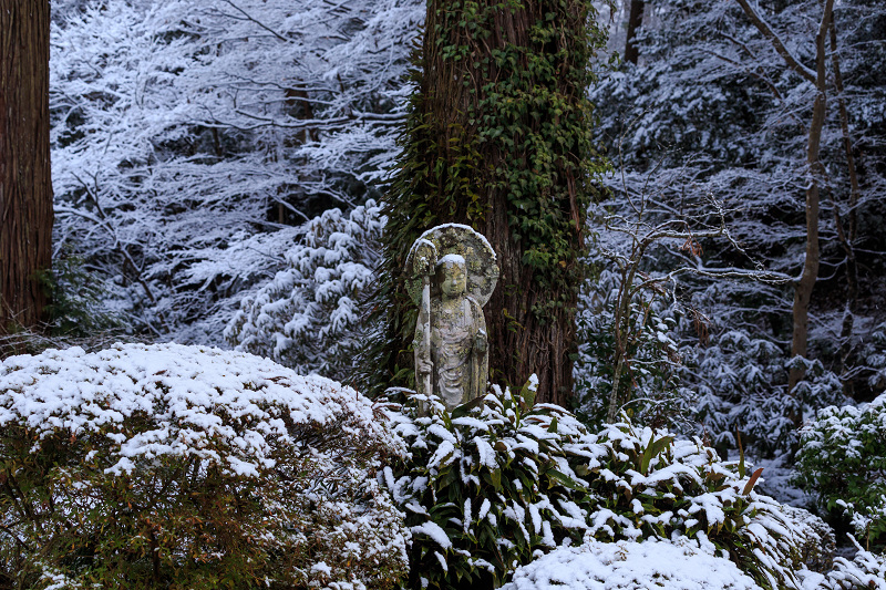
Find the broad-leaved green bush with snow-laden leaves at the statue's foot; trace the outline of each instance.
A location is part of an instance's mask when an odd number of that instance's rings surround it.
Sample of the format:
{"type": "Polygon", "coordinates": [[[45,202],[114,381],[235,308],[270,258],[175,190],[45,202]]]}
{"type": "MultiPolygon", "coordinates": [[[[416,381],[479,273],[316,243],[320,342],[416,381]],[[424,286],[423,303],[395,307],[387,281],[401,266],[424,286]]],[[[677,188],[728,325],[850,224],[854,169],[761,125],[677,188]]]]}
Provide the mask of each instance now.
{"type": "MultiPolygon", "coordinates": [[[[686,538],[766,589],[796,588],[813,527],[753,490],[759,474],[699,439],[616,424],[591,434],[533,389],[494,389],[452,418],[391,413],[411,458],[387,472],[408,513],[412,571],[454,587],[485,568],[506,580],[540,552],[583,539],[686,538]]],[[[419,580],[414,580],[419,582],[419,580]]]]}

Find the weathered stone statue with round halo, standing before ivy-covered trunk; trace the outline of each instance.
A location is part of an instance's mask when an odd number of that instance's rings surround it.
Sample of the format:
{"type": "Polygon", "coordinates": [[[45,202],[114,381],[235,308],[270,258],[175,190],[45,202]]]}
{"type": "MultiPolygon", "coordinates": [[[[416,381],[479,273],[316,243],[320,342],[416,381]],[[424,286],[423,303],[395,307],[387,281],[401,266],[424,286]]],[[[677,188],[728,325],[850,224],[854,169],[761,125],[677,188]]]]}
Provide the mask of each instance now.
{"type": "Polygon", "coordinates": [[[490,353],[483,306],[498,281],[495,251],[468,226],[425,231],[406,258],[406,282],[419,304],[415,390],[452,411],[485,394],[490,353]]]}

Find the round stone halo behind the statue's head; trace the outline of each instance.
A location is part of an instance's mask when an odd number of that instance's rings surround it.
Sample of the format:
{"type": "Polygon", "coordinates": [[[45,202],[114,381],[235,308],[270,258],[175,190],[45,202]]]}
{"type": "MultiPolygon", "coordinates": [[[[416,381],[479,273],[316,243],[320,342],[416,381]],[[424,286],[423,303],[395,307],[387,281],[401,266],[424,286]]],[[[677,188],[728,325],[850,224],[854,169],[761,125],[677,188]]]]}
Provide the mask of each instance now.
{"type": "MultiPolygon", "coordinates": [[[[445,224],[436,226],[415,240],[406,256],[406,291],[416,306],[422,302],[422,276],[414,270],[414,255],[420,245],[430,241],[436,249],[436,260],[446,255],[461,255],[467,267],[467,294],[481,307],[485,306],[498,282],[495,250],[488,240],[470,226],[445,224]]],[[[433,297],[433,294],[432,294],[433,297]]]]}

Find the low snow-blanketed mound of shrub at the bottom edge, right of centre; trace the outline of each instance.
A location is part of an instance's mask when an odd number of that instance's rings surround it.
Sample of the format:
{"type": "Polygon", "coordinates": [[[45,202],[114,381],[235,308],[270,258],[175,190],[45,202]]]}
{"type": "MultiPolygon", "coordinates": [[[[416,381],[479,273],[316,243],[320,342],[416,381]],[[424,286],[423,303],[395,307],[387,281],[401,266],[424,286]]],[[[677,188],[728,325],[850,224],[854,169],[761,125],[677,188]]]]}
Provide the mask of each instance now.
{"type": "Polygon", "coordinates": [[[760,590],[728,559],[681,541],[564,547],[518,568],[502,590],[760,590]]]}

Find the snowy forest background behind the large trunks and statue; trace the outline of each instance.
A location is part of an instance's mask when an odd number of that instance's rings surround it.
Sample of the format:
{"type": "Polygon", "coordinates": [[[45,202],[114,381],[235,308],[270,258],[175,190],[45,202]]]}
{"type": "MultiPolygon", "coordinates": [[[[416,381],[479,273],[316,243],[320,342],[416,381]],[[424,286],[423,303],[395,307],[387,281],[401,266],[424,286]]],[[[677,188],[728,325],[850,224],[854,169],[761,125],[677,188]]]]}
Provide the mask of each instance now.
{"type": "MultiPolygon", "coordinates": [[[[735,0],[645,4],[637,63],[617,58],[630,2],[599,7],[610,38],[588,92],[611,169],[589,211],[570,410],[601,425],[615,398],[637,424],[722,456],[741,446],[767,468],[766,493],[815,508],[790,483],[797,424],[886,391],[886,8],[834,7],[821,270],[805,376],[789,391],[816,89],[735,0]]],[[[237,348],[349,383],[373,329],[361,301],[424,3],[52,10],[55,335],[43,344],[237,348]]],[[[814,68],[821,3],[759,10],[814,68]]],[[[886,497],[855,519],[859,538],[886,530],[884,514],[886,497]]],[[[852,530],[847,513],[830,518],[852,530]]]]}

